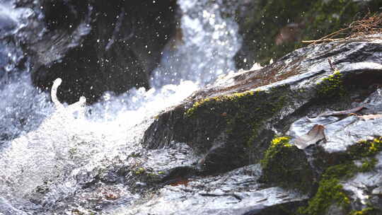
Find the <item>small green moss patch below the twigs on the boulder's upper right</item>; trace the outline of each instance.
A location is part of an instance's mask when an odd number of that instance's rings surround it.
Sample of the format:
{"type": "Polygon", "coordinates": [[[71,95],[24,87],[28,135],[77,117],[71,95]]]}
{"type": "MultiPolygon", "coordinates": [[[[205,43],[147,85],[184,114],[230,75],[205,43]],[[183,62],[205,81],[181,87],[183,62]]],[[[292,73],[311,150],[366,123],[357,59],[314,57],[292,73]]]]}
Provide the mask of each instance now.
{"type": "Polygon", "coordinates": [[[345,87],[341,79],[340,71],[335,71],[334,74],[326,77],[318,83],[319,98],[337,98],[346,94],[345,87]]]}

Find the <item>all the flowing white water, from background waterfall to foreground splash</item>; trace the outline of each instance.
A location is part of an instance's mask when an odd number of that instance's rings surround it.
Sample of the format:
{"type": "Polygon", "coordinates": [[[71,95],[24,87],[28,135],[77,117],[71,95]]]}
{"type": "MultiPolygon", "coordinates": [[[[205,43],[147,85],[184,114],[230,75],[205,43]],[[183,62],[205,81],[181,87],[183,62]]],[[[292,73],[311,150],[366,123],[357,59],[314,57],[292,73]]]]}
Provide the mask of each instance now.
{"type": "Polygon", "coordinates": [[[118,190],[119,200],[100,208],[100,214],[108,214],[115,207],[128,209],[139,197],[125,185],[93,182],[142,150],[141,136],[158,112],[236,69],[233,56],[241,41],[238,25],[227,16],[235,8],[208,0],[178,4],[183,39],[163,50],[152,88],[105,93],[84,107],[83,100],[53,104],[33,87],[28,62],[19,66],[23,52],[17,42],[33,11],[0,1],[0,28],[6,30],[0,38],[1,215],[69,214],[74,208],[80,213],[81,205],[96,202],[103,190],[118,190]]]}

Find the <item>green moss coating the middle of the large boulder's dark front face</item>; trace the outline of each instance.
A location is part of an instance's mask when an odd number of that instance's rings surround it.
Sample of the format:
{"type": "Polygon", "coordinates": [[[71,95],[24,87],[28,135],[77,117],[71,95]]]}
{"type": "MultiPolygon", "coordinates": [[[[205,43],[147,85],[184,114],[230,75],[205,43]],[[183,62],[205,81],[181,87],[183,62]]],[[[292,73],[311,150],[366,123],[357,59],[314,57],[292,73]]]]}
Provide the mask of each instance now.
{"type": "Polygon", "coordinates": [[[187,141],[191,144],[195,142],[198,144],[197,149],[207,151],[214,139],[224,133],[225,141],[235,157],[230,158],[231,161],[227,163],[220,162],[219,165],[237,168],[243,162],[248,162],[248,159],[250,163],[256,162],[260,156],[255,156],[262,154],[262,151],[257,148],[259,153],[252,153],[253,146],[265,142],[266,146],[269,144],[270,139],[265,140],[260,134],[267,120],[277,116],[289,104],[289,93],[289,86],[279,86],[270,91],[246,91],[199,100],[185,110],[189,133],[199,134],[197,139],[190,135],[187,141]],[[255,156],[249,158],[251,155],[255,156]]]}

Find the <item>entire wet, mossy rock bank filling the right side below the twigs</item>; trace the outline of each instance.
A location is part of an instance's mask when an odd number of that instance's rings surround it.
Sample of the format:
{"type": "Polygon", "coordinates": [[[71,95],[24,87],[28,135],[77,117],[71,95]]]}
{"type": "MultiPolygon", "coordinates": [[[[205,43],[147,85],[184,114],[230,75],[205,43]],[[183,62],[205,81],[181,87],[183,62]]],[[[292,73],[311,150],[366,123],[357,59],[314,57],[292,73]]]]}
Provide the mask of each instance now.
{"type": "Polygon", "coordinates": [[[143,146],[155,151],[183,142],[194,151],[192,158],[197,161],[187,164],[190,174],[185,174],[186,179],[175,187],[166,185],[156,190],[130,214],[151,209],[158,213],[157,207],[161,208],[159,214],[186,213],[180,208],[197,214],[349,214],[381,210],[381,39],[381,35],[370,35],[296,50],[262,69],[226,76],[194,93],[182,105],[158,115],[145,132],[143,146]],[[277,136],[287,136],[284,147],[293,150],[280,148],[279,155],[274,153],[272,165],[280,170],[261,170],[266,166],[255,163],[268,162],[271,141],[277,136]],[[283,169],[290,174],[284,174],[283,169]],[[293,180],[306,176],[302,169],[310,175],[308,190],[302,182],[293,180]],[[236,180],[243,175],[255,181],[253,187],[233,183],[233,190],[245,193],[235,192],[238,197],[248,194],[245,197],[252,199],[249,202],[245,198],[239,201],[231,190],[224,190],[224,185],[218,186],[221,192],[212,185],[205,194],[195,187],[195,183],[207,184],[204,180],[210,178],[236,180]],[[295,176],[287,177],[291,175],[295,176]],[[289,180],[299,185],[285,186],[289,180]],[[279,195],[272,199],[275,190],[282,190],[287,199],[279,195]],[[328,200],[325,193],[333,198],[328,200]],[[255,196],[262,194],[272,203],[256,203],[255,196]],[[207,198],[211,196],[214,199],[207,198]],[[214,202],[216,196],[221,198],[219,203],[214,202]],[[193,201],[206,206],[190,207],[193,201]],[[226,207],[229,201],[233,203],[226,207]]]}

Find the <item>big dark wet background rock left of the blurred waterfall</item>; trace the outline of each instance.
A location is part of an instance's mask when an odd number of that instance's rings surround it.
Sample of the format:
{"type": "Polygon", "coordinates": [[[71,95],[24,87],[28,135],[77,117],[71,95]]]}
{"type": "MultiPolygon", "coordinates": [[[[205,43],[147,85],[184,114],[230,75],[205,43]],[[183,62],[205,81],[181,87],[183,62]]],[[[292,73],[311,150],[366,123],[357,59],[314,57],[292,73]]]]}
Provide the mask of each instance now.
{"type": "Polygon", "coordinates": [[[25,28],[24,47],[33,63],[33,82],[50,88],[63,79],[59,98],[81,95],[96,101],[105,91],[149,87],[150,72],[175,33],[176,1],[18,1],[35,17],[25,28]],[[40,14],[37,16],[37,14],[40,14]]]}

